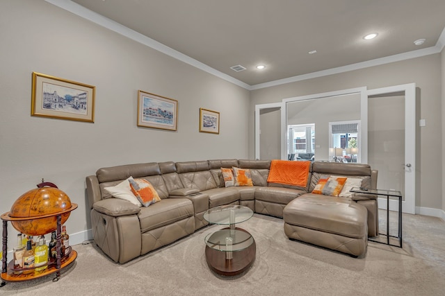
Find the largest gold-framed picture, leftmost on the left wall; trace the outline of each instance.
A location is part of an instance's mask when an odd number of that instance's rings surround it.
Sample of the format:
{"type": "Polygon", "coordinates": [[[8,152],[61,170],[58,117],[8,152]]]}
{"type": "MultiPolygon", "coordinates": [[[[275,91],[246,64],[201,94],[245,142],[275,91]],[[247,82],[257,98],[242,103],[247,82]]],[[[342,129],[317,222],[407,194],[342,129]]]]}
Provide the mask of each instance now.
{"type": "Polygon", "coordinates": [[[33,72],[31,115],[94,122],[96,87],[33,72]]]}

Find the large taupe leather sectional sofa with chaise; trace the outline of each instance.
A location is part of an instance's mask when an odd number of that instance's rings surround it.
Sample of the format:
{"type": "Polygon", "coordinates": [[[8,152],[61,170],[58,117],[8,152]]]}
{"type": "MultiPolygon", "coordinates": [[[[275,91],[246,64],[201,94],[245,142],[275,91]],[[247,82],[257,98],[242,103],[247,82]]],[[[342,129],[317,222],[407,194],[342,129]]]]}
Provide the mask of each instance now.
{"type": "Polygon", "coordinates": [[[378,235],[378,204],[373,195],[333,197],[311,193],[330,175],[362,179],[375,189],[377,171],[367,164],[312,162],[306,186],[268,182],[271,161],[214,159],[99,168],[86,177],[92,234],[113,261],[125,263],[193,234],[208,225],[209,208],[241,204],[257,214],[284,218],[289,238],[360,256],[368,236],[378,235]],[[220,168],[249,168],[253,186],[225,187],[220,168]],[[129,177],[154,186],[161,201],[140,207],[114,198],[105,187],[129,177]]]}

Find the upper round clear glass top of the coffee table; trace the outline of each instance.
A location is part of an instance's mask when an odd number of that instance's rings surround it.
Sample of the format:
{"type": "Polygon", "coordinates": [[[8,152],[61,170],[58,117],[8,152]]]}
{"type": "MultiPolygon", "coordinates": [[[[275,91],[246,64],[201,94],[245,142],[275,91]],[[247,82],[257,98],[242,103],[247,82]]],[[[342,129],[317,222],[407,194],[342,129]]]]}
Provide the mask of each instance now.
{"type": "Polygon", "coordinates": [[[204,213],[204,219],[211,224],[231,225],[249,220],[253,211],[241,205],[214,207],[204,213]]]}

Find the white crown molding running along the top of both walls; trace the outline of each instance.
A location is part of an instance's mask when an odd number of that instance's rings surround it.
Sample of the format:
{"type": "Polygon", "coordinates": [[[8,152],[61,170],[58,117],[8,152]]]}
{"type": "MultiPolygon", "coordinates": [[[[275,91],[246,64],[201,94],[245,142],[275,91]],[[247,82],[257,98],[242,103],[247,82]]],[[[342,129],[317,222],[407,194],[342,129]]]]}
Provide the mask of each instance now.
{"type": "Polygon", "coordinates": [[[348,64],[348,65],[342,66],[342,67],[326,69],[326,70],[322,70],[322,71],[316,71],[316,72],[312,72],[312,73],[307,73],[307,74],[293,76],[293,77],[279,79],[279,80],[273,80],[270,82],[259,83],[257,85],[248,85],[247,83],[242,82],[241,80],[238,80],[238,79],[233,78],[232,76],[229,76],[223,72],[213,69],[212,67],[209,67],[207,64],[204,64],[198,60],[195,60],[195,59],[189,57],[188,55],[184,55],[184,53],[180,53],[179,51],[176,51],[175,49],[165,46],[164,44],[161,44],[160,42],[157,42],[156,40],[153,40],[152,38],[142,35],[136,31],[133,31],[130,28],[127,28],[126,26],[122,26],[122,24],[119,24],[111,19],[108,19],[107,17],[104,17],[103,15],[99,15],[98,13],[93,12],[92,10],[89,10],[88,8],[85,8],[71,0],[45,0],[45,1],[53,4],[54,6],[58,6],[59,8],[63,8],[64,10],[72,12],[74,15],[79,15],[79,17],[88,19],[89,21],[92,21],[93,23],[98,24],[99,26],[103,26],[104,28],[108,28],[109,30],[114,31],[118,34],[124,35],[125,37],[128,37],[131,40],[134,40],[136,42],[144,44],[145,46],[149,46],[156,51],[160,51],[161,53],[164,53],[165,55],[170,55],[172,58],[180,60],[181,62],[185,62],[186,64],[190,64],[191,66],[196,67],[197,69],[200,69],[207,73],[210,73],[213,76],[216,76],[216,77],[226,80],[228,82],[232,82],[234,85],[238,85],[239,87],[243,87],[244,89],[248,89],[249,91],[255,90],[255,89],[263,89],[266,87],[274,87],[277,85],[284,85],[286,83],[297,82],[297,81],[302,81],[302,80],[307,80],[307,79],[312,79],[312,78],[329,76],[329,75],[333,75],[333,74],[337,74],[337,73],[344,73],[344,72],[348,72],[348,71],[364,69],[364,68],[368,68],[368,67],[379,66],[382,64],[389,64],[391,62],[399,62],[402,60],[409,60],[412,58],[420,58],[424,55],[432,55],[435,53],[440,53],[440,52],[442,52],[442,50],[444,49],[444,46],[445,46],[445,28],[444,28],[444,30],[442,31],[442,34],[440,35],[439,39],[437,40],[436,45],[432,46],[432,47],[428,47],[426,49],[419,49],[416,51],[408,51],[407,53],[399,53],[399,54],[390,55],[390,56],[387,56],[384,58],[368,60],[365,62],[358,62],[356,64],[348,64]]]}

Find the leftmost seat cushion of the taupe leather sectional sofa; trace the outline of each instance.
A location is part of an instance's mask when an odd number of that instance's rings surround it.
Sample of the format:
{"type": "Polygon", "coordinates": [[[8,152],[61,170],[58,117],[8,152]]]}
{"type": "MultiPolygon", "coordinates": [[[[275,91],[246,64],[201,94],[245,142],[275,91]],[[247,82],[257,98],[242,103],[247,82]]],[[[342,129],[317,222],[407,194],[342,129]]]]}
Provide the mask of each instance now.
{"type": "Polygon", "coordinates": [[[175,223],[193,216],[193,203],[187,198],[165,198],[149,207],[140,208],[140,232],[175,223]]]}

